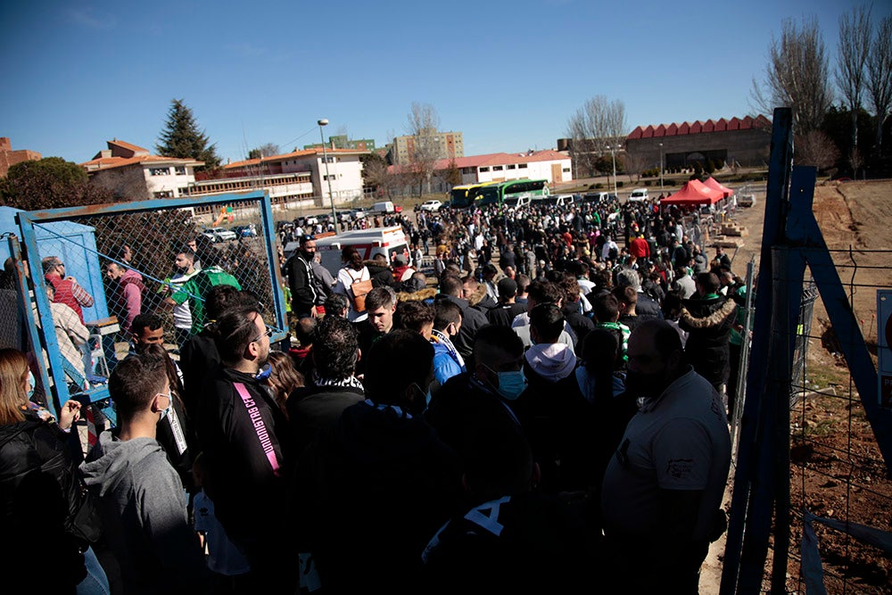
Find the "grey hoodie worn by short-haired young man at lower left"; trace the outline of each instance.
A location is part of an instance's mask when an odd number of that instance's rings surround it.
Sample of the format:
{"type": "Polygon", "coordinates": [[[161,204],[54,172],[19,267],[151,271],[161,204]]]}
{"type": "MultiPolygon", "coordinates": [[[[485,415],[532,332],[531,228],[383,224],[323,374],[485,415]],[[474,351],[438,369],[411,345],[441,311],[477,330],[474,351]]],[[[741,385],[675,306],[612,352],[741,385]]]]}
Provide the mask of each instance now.
{"type": "Polygon", "coordinates": [[[127,593],[179,592],[203,581],[204,560],[186,515],[179,475],[153,438],[111,432],[80,465],[127,593]]]}

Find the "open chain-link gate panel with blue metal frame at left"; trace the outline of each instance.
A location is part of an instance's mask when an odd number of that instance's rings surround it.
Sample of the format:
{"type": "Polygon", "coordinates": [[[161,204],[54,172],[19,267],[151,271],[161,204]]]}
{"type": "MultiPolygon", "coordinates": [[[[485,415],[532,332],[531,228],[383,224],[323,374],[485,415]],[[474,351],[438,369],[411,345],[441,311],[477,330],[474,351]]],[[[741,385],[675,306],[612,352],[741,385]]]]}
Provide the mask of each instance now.
{"type": "Polygon", "coordinates": [[[44,335],[59,402],[70,393],[106,396],[103,384],[131,348],[136,317],[161,318],[166,347],[176,355],[209,321],[204,301],[213,285],[253,293],[277,331],[273,340],[285,336],[265,194],[21,212],[18,218],[30,277],[40,281],[33,284],[38,319],[56,329],[57,340],[44,335]]]}

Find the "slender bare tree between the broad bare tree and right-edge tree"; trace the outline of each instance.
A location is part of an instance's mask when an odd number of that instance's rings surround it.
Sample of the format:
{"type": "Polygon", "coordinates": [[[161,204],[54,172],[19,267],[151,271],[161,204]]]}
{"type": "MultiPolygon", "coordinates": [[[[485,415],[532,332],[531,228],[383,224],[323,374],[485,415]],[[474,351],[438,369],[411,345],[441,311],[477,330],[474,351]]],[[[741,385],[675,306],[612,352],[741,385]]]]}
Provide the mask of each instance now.
{"type": "Polygon", "coordinates": [[[852,112],[852,151],[858,147],[858,111],[864,90],[864,64],[871,48],[871,13],[865,6],[839,17],[836,79],[852,112]]]}

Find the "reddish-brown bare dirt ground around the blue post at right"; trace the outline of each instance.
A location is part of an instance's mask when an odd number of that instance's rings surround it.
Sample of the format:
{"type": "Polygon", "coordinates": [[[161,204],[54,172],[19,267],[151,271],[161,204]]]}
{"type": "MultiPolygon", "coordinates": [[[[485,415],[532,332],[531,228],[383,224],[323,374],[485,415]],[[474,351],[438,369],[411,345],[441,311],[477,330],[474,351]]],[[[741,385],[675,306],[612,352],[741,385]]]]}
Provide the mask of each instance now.
{"type": "MultiPolygon", "coordinates": [[[[831,254],[839,277],[875,362],[876,290],[892,285],[887,261],[892,255],[888,235],[892,182],[819,183],[814,213],[828,247],[834,251],[831,254]]],[[[751,255],[756,255],[758,265],[763,218],[764,189],[756,195],[756,206],[740,210],[734,217],[749,231],[734,259],[738,274],[746,270],[751,255]]],[[[818,516],[882,531],[892,529],[892,482],[838,351],[827,311],[818,299],[806,352],[806,390],[791,411],[793,520],[788,592],[805,592],[798,562],[804,508],[818,516]]],[[[828,592],[892,592],[892,561],[880,550],[823,525],[816,524],[815,531],[828,592]]],[[[718,543],[714,546],[704,565],[704,593],[718,591],[723,551],[718,543]]]]}

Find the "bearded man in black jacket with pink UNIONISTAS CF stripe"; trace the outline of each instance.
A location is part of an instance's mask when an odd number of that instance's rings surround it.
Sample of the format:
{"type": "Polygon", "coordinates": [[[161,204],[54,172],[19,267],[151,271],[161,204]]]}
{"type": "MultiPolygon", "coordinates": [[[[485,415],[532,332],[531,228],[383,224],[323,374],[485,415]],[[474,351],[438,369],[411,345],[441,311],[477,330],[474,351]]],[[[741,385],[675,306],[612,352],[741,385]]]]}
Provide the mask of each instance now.
{"type": "Polygon", "coordinates": [[[198,401],[199,442],[208,482],[205,492],[229,539],[251,565],[251,591],[293,593],[296,552],[285,544],[287,419],[260,373],[272,330],[256,305],[226,310],[214,341],[220,365],[211,371],[198,401]]]}

